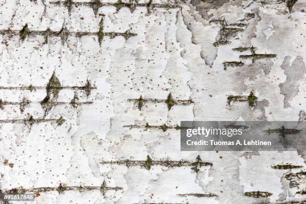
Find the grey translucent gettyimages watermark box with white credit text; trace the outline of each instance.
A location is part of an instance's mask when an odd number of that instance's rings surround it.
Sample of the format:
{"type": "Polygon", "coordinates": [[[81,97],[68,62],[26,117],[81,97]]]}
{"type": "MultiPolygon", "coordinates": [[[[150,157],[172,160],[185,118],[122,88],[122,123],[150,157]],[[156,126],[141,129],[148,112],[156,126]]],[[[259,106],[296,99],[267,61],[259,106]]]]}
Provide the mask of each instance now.
{"type": "Polygon", "coordinates": [[[302,150],[306,121],[181,121],[182,151],[302,150]]]}

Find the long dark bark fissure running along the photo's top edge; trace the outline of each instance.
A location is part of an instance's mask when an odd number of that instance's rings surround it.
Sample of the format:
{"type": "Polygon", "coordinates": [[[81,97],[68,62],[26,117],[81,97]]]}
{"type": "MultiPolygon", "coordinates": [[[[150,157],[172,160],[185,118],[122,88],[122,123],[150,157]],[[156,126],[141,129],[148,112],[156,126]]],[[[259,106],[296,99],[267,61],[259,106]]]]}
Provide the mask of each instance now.
{"type": "Polygon", "coordinates": [[[90,2],[73,2],[72,0],[65,0],[65,1],[50,1],[51,4],[56,5],[64,5],[68,8],[68,11],[71,12],[72,6],[79,6],[79,5],[85,5],[90,6],[93,10],[93,13],[96,15],[99,8],[102,6],[114,6],[116,7],[116,10],[120,10],[122,7],[129,8],[130,12],[133,12],[136,7],[146,7],[146,10],[148,13],[150,13],[150,10],[154,7],[156,8],[177,8],[178,4],[175,3],[152,3],[152,0],[149,0],[147,3],[138,3],[137,0],[129,0],[129,2],[122,2],[121,0],[117,0],[116,2],[100,2],[100,0],[91,0],[90,2]]]}

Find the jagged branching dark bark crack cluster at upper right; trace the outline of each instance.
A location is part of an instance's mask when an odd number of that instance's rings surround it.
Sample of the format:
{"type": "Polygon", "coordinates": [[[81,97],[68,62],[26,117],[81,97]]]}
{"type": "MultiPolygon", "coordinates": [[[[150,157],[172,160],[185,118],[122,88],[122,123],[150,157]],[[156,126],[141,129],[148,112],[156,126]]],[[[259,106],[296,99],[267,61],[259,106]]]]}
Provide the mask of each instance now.
{"type": "Polygon", "coordinates": [[[235,36],[237,32],[243,32],[244,28],[241,27],[247,26],[247,24],[245,23],[231,23],[227,25],[223,17],[219,19],[212,19],[209,21],[209,23],[217,23],[221,25],[220,39],[216,42],[213,42],[213,46],[218,46],[221,44],[230,44],[231,41],[229,41],[228,38],[235,36]]]}

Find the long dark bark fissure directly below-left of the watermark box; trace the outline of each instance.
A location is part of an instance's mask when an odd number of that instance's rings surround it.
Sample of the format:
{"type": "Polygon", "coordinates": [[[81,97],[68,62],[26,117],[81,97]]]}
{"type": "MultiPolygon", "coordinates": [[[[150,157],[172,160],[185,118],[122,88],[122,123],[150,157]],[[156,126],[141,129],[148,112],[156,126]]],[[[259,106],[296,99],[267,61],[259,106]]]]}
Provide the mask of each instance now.
{"type": "Polygon", "coordinates": [[[202,161],[200,156],[196,157],[195,161],[184,161],[184,160],[152,160],[149,155],[146,156],[146,160],[116,160],[116,161],[99,161],[101,164],[116,164],[129,166],[141,166],[149,170],[152,165],[161,165],[166,167],[181,167],[181,166],[193,166],[192,170],[195,172],[199,171],[201,166],[212,166],[211,162],[202,161]]]}

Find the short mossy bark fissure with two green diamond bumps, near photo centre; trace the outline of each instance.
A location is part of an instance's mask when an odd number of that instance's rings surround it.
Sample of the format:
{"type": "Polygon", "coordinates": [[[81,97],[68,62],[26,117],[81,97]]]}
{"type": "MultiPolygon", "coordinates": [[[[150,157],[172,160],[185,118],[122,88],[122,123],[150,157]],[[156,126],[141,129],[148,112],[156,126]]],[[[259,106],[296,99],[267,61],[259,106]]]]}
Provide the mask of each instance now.
{"type": "Polygon", "coordinates": [[[168,110],[170,110],[173,105],[177,105],[177,104],[189,105],[189,104],[193,103],[193,101],[191,99],[189,99],[189,100],[173,99],[171,93],[169,93],[167,99],[142,98],[142,96],[140,95],[140,97],[138,99],[131,98],[131,99],[127,99],[127,101],[134,101],[135,103],[137,103],[137,107],[138,107],[139,110],[141,110],[141,107],[143,106],[144,102],[152,102],[152,103],[164,102],[164,103],[167,104],[168,110]]]}

